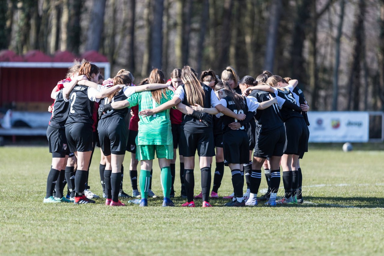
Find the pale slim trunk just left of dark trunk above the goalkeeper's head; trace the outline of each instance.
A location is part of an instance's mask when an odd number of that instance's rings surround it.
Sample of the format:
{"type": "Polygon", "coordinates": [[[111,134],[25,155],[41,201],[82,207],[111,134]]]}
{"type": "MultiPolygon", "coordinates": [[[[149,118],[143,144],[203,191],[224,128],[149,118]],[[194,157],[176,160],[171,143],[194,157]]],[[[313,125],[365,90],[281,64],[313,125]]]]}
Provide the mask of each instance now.
{"type": "Polygon", "coordinates": [[[143,63],[141,69],[141,76],[148,77],[149,75],[149,60],[151,53],[151,0],[146,0],[144,9],[144,28],[146,28],[146,39],[144,42],[143,63]]]}

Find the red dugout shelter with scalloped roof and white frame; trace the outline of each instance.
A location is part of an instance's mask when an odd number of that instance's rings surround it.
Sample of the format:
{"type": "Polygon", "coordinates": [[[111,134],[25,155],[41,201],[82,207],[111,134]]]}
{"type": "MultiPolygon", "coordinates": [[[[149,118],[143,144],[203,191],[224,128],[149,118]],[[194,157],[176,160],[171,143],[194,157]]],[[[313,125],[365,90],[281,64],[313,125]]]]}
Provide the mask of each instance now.
{"type": "Polygon", "coordinates": [[[13,51],[0,51],[0,107],[13,106],[28,111],[46,111],[52,104],[53,87],[65,78],[73,59],[87,59],[102,69],[104,77],[110,76],[108,59],[96,51],[77,57],[68,51],[48,56],[33,50],[24,56],[13,51]]]}

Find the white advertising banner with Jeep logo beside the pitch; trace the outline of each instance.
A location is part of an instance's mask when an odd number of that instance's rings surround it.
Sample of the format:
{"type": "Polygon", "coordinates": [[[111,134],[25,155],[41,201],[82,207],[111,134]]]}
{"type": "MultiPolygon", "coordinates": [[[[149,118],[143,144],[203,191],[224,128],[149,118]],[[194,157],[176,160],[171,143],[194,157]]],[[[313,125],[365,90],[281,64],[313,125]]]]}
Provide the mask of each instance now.
{"type": "Polygon", "coordinates": [[[367,142],[368,112],[308,112],[309,142],[367,142]]]}

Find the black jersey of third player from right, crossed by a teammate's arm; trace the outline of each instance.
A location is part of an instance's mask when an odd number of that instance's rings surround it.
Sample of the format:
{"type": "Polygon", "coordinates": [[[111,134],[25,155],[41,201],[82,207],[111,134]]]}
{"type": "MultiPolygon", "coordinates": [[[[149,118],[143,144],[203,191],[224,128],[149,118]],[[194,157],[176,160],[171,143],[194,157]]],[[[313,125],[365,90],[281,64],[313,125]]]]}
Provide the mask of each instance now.
{"type": "MultiPolygon", "coordinates": [[[[260,90],[252,90],[249,95],[255,97],[258,102],[264,102],[270,100],[269,94],[271,94],[272,97],[276,97],[273,92],[260,90]]],[[[268,132],[284,125],[277,104],[273,104],[266,109],[258,109],[255,118],[258,129],[260,129],[260,133],[268,132]]]]}

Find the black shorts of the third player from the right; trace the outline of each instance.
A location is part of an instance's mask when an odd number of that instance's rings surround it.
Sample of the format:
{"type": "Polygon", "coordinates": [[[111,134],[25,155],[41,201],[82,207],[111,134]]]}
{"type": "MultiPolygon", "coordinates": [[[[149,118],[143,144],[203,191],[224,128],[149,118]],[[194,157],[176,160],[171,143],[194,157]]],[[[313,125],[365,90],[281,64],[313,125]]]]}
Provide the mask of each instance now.
{"type": "Polygon", "coordinates": [[[284,126],[259,133],[253,155],[260,158],[281,157],[284,152],[285,139],[284,126]]]}

